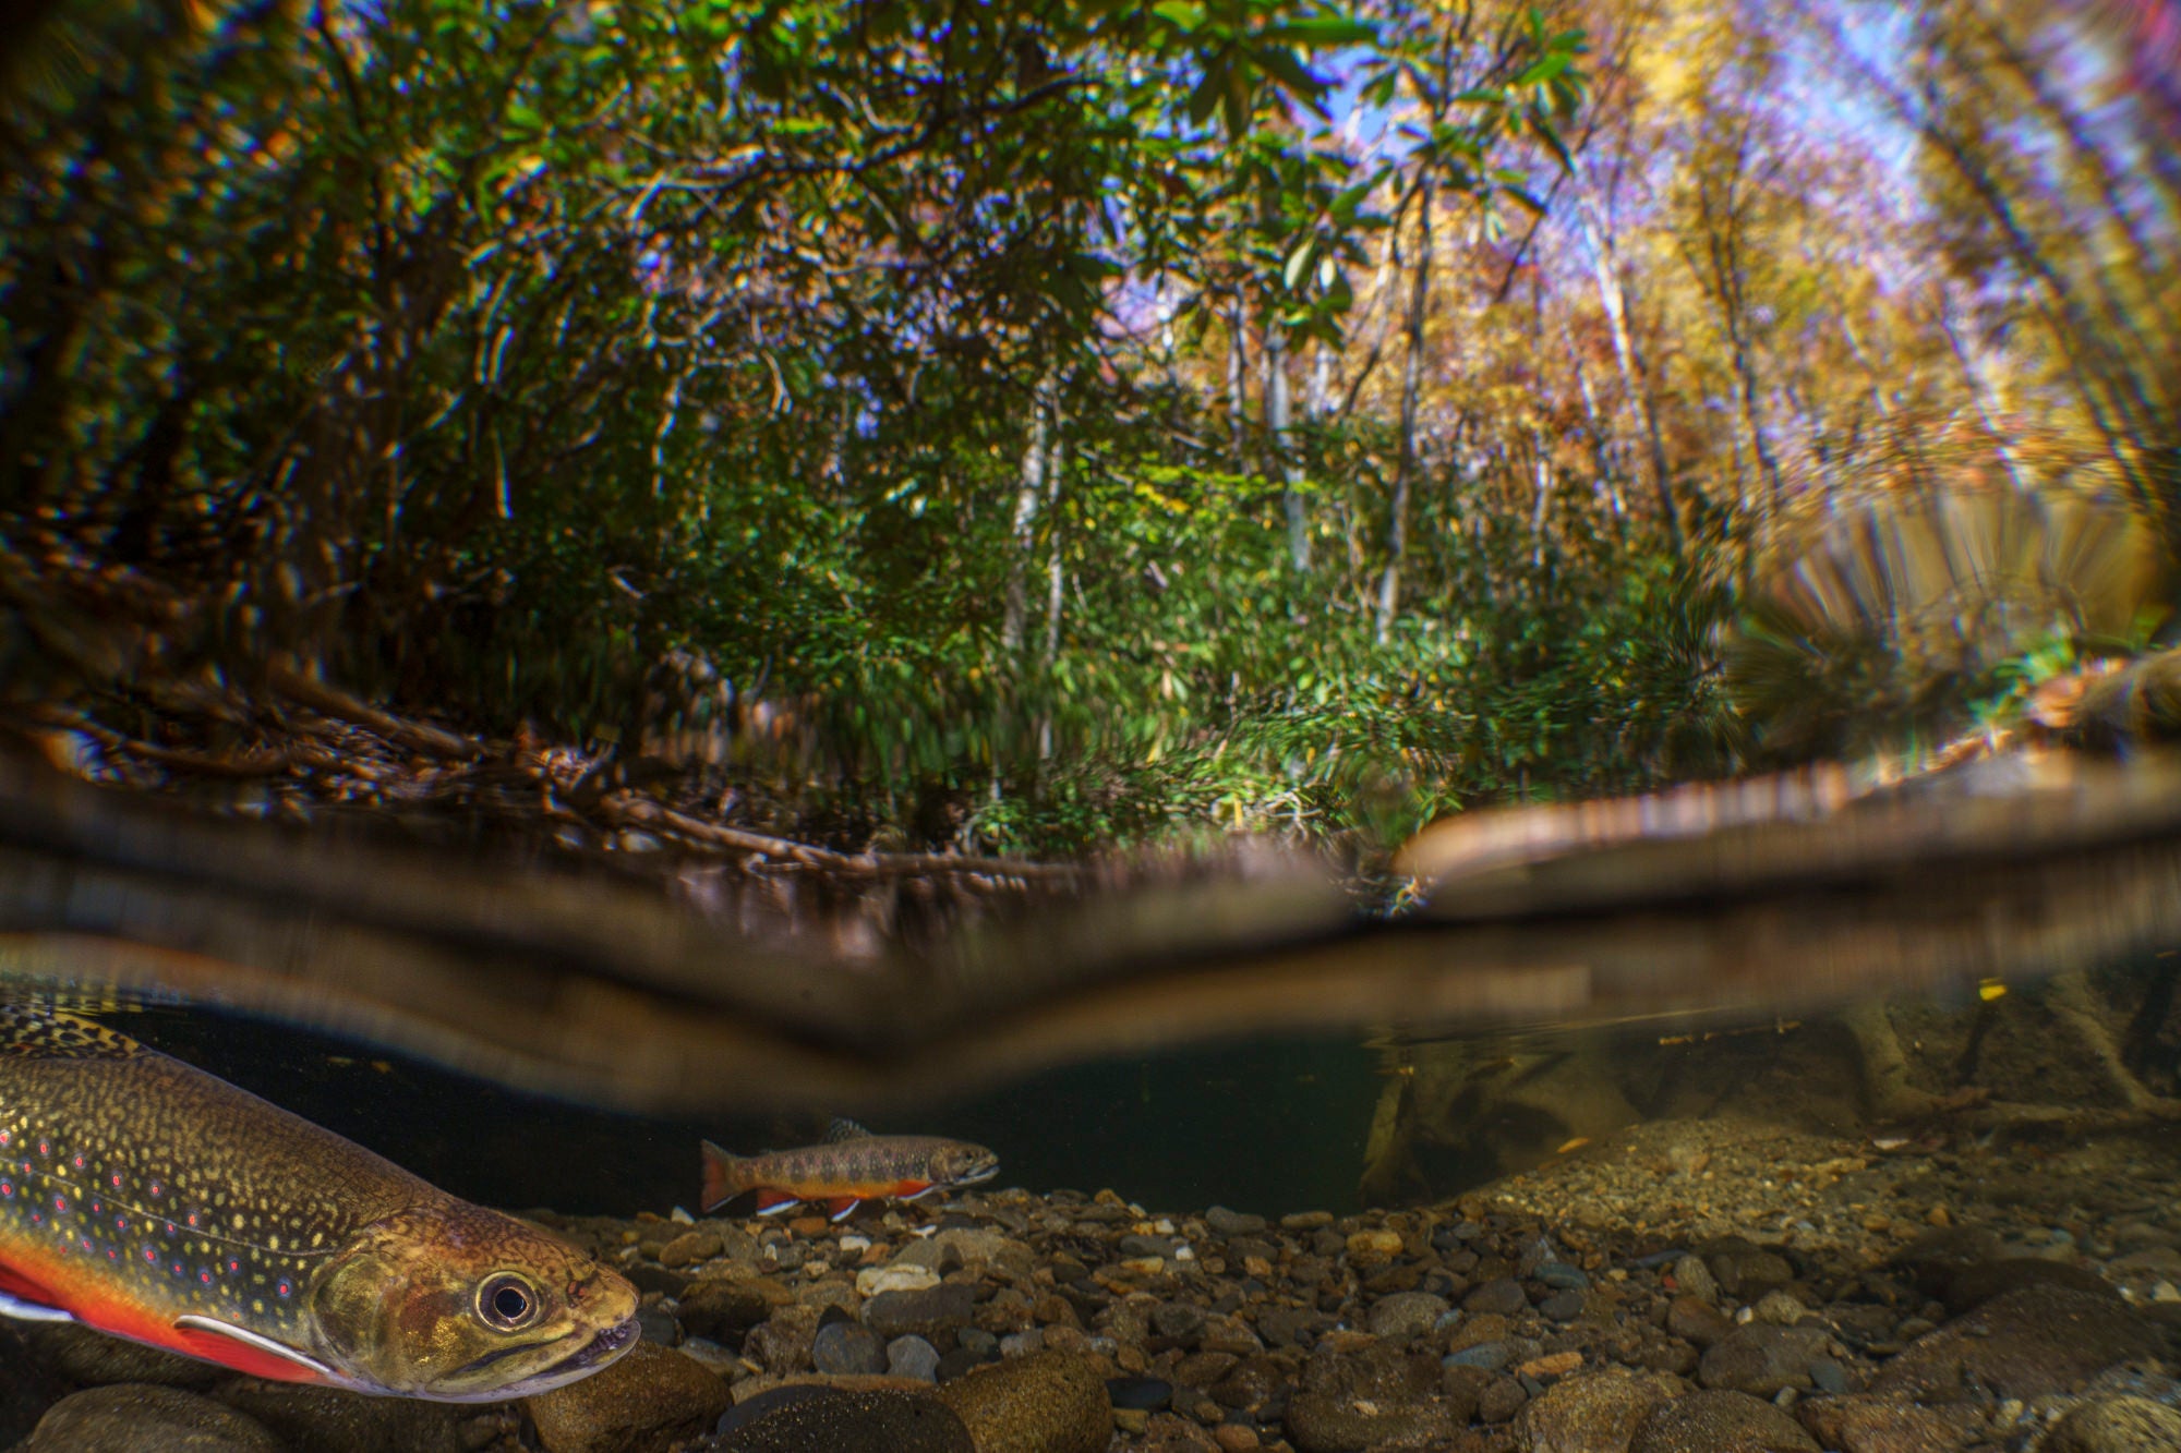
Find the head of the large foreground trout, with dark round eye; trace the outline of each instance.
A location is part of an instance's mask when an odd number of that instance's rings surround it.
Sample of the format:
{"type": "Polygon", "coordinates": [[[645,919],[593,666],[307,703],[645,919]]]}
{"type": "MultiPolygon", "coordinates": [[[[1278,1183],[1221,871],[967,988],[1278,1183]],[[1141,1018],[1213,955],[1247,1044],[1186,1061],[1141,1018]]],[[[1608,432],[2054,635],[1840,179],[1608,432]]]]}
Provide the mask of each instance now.
{"type": "Polygon", "coordinates": [[[364,1226],[312,1278],[314,1353],[356,1392],[497,1403],[637,1344],[637,1289],[537,1226],[417,1206],[364,1226]]]}

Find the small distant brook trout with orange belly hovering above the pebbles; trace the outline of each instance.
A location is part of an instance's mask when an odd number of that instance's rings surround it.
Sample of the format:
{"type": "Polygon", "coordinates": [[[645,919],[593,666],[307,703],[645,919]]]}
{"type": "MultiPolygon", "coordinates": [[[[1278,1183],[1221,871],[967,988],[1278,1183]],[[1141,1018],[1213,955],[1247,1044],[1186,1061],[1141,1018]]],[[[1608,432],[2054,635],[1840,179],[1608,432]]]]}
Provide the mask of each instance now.
{"type": "Polygon", "coordinates": [[[820,1200],[838,1222],[866,1200],[916,1200],[997,1174],[999,1156],[984,1145],[936,1134],[872,1134],[853,1119],[835,1119],[822,1145],[761,1156],[733,1156],[704,1141],[702,1202],[711,1211],[742,1191],[757,1191],[757,1213],[774,1215],[820,1200]]]}

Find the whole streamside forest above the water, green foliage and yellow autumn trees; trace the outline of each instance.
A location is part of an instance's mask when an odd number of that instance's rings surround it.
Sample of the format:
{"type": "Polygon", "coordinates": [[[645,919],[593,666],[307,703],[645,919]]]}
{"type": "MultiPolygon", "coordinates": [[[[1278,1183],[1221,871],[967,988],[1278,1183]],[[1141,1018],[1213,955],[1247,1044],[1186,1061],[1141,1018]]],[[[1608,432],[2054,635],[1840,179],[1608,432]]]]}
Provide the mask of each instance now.
{"type": "Polygon", "coordinates": [[[1029,855],[1932,722],[2146,639],[2155,565],[2092,611],[2037,556],[2004,628],[1865,600],[1860,676],[1775,583],[1950,491],[2181,537],[2137,24],[57,7],[0,35],[0,698],[168,740],[153,679],[327,681],[1029,855]]]}

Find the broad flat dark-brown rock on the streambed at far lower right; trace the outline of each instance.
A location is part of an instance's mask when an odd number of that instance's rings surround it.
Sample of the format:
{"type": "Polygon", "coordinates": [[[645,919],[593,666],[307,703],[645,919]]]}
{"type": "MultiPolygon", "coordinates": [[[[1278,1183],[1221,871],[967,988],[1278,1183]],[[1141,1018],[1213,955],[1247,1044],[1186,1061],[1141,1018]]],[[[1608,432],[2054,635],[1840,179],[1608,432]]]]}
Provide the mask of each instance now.
{"type": "Polygon", "coordinates": [[[1871,1392],[1919,1398],[2039,1398],[2074,1392],[2105,1368],[2166,1350],[2157,1329],[2124,1302],[2022,1287],[1919,1337],[1871,1379],[1871,1392]]]}

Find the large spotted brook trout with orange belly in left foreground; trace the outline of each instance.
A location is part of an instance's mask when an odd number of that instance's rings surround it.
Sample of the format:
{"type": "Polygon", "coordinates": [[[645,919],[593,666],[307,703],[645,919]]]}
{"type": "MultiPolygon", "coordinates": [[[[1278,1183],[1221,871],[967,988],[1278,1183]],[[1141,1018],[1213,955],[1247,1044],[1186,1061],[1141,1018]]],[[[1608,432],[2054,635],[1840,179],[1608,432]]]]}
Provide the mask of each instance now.
{"type": "Polygon", "coordinates": [[[519,1398],[637,1342],[637,1292],[181,1060],[0,1004],[0,1313],[253,1377],[519,1398]]]}

